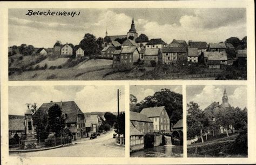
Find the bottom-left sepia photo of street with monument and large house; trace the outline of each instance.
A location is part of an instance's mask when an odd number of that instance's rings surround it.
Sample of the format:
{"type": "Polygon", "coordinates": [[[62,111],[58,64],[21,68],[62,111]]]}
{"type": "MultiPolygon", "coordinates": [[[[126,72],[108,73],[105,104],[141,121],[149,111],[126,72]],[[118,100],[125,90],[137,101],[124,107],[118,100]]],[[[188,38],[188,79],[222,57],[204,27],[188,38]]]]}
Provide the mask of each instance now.
{"type": "Polygon", "coordinates": [[[8,122],[9,156],[125,156],[124,86],[10,86],[8,122]]]}

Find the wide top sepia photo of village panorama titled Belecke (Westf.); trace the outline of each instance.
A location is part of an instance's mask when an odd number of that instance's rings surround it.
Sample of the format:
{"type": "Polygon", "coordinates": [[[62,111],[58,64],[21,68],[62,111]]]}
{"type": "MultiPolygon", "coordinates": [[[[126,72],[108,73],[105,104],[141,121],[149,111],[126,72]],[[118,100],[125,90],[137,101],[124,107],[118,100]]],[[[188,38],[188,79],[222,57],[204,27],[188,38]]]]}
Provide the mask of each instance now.
{"type": "Polygon", "coordinates": [[[246,8],[8,12],[10,81],[247,80],[246,8]]]}

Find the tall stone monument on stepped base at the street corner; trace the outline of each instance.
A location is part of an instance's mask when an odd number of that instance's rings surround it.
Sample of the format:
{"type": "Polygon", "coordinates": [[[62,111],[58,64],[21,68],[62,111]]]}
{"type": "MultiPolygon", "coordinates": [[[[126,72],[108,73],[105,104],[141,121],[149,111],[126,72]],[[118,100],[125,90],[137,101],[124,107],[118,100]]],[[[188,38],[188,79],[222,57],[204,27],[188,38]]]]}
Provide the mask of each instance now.
{"type": "Polygon", "coordinates": [[[31,149],[37,147],[37,139],[34,134],[32,111],[29,108],[25,112],[25,135],[23,135],[23,140],[21,140],[22,149],[31,149]]]}

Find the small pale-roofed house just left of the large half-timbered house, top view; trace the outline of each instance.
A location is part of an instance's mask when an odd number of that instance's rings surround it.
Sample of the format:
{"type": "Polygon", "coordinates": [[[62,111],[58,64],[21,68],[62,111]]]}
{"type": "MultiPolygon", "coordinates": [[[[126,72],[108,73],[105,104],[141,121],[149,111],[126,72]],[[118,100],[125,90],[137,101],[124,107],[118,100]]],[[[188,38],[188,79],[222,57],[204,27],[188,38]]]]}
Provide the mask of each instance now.
{"type": "Polygon", "coordinates": [[[141,58],[144,61],[144,64],[152,66],[161,63],[161,53],[159,49],[144,49],[144,53],[141,58]],[[154,61],[154,64],[152,64],[154,61]]]}

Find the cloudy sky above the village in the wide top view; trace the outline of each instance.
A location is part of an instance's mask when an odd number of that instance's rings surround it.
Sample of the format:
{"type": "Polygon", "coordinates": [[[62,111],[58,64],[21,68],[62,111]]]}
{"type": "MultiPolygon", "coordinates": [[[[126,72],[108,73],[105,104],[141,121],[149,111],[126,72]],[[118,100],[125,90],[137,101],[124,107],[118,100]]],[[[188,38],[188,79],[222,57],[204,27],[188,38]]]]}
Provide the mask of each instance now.
{"type": "MultiPolygon", "coordinates": [[[[30,9],[33,10],[33,9],[30,9]]],[[[126,35],[132,18],[136,30],[151,38],[219,43],[229,37],[246,36],[245,8],[215,9],[35,9],[33,11],[79,11],[79,16],[26,16],[28,9],[9,9],[9,46],[31,44],[53,47],[56,40],[79,44],[85,33],[96,37],[126,35]]]]}

